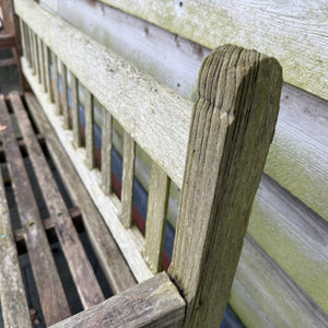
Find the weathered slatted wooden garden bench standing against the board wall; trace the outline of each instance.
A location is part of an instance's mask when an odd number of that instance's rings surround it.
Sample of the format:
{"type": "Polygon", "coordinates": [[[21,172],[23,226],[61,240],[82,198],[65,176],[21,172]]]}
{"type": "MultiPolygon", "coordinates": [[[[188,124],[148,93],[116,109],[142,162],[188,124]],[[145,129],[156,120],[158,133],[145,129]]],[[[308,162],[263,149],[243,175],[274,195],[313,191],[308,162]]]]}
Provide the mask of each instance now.
{"type": "Polygon", "coordinates": [[[280,65],[256,50],[216,48],[200,69],[191,113],[191,102],[34,1],[14,4],[23,72],[38,101],[31,93],[0,99],[1,154],[22,225],[19,233],[12,232],[0,180],[0,296],[7,327],[31,326],[17,235],[26,245],[47,326],[218,327],[273,138],[280,65]],[[25,107],[79,204],[95,254],[117,293],[108,300],[25,107]],[[22,141],[16,141],[9,110],[16,116],[22,141]],[[101,150],[95,147],[96,115],[102,118],[101,150]],[[124,129],[120,199],[113,192],[113,119],[124,129]],[[50,218],[45,221],[27,183],[20,144],[31,157],[48,208],[50,218]],[[144,237],[132,221],[136,144],[152,161],[144,237]],[[171,183],[181,189],[181,197],[166,273],[161,271],[171,183]],[[49,227],[60,242],[84,308],[72,317],[46,237],[49,227]]]}

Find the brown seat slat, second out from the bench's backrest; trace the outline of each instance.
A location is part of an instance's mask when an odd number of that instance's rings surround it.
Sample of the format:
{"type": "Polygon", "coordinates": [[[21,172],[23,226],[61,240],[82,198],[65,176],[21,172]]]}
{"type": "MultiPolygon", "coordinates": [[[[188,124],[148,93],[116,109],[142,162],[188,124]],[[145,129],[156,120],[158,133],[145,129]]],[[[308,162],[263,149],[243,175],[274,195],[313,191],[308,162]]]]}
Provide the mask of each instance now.
{"type": "Polygon", "coordinates": [[[75,282],[82,305],[84,308],[89,308],[105,300],[103,292],[92,266],[89,262],[57,184],[52,178],[51,169],[47,165],[47,161],[33,132],[19,93],[11,93],[10,101],[13,105],[49,214],[55,219],[57,236],[65,253],[73,281],[75,282]]]}

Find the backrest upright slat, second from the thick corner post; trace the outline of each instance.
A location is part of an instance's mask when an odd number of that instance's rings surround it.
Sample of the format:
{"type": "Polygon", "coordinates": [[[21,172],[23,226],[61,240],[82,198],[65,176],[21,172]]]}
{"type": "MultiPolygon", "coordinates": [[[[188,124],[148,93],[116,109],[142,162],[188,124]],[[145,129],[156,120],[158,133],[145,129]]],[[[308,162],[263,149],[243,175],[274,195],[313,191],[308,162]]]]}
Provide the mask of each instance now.
{"type": "Polygon", "coordinates": [[[134,181],[136,143],[129,133],[124,137],[124,165],[121,178],[120,222],[125,227],[132,225],[133,181],[134,181]]]}

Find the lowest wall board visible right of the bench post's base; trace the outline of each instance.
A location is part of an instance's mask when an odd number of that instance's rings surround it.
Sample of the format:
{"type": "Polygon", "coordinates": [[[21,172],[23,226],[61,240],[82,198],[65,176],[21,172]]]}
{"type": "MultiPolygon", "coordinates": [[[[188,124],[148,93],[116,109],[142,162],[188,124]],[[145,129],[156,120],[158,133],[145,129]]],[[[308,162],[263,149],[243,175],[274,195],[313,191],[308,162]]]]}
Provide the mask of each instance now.
{"type": "Polygon", "coordinates": [[[247,327],[316,328],[328,321],[328,315],[249,236],[230,303],[247,327]]]}

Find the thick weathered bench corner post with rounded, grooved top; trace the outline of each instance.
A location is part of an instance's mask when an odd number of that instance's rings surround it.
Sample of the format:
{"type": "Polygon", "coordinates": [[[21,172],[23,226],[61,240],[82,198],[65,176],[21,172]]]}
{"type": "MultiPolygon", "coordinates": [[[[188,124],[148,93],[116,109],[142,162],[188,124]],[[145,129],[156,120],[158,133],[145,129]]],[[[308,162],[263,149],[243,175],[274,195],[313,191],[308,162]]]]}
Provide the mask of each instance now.
{"type": "Polygon", "coordinates": [[[187,301],[187,327],[222,319],[281,85],[277,60],[236,46],[218,48],[200,70],[169,267],[187,301]]]}

